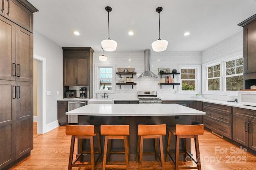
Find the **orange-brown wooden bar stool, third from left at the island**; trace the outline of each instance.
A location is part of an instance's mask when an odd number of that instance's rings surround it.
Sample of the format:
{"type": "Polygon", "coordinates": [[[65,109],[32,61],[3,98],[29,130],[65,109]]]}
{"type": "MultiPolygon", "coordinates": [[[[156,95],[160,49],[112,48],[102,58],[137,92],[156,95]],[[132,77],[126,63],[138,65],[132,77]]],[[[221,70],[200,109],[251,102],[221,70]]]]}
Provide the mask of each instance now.
{"type": "Polygon", "coordinates": [[[162,135],[166,135],[166,125],[138,125],[138,142],[137,142],[137,154],[136,162],[139,160],[139,170],[142,168],[142,155],[154,154],[157,158],[161,160],[162,170],[164,170],[164,150],[163,150],[163,139],[162,135]],[[144,152],[143,153],[143,141],[144,139],[154,139],[155,151],[154,152],[144,152]],[[158,154],[157,139],[159,139],[160,144],[160,156],[158,154]]]}

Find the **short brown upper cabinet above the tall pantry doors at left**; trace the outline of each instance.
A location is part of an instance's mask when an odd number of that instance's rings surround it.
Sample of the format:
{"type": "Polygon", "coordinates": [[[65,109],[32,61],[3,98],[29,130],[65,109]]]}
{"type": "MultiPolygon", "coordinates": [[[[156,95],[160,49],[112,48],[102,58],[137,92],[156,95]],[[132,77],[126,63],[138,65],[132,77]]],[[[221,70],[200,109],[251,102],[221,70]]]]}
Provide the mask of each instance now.
{"type": "Polygon", "coordinates": [[[38,10],[29,2],[24,0],[0,0],[0,8],[0,15],[29,32],[33,32],[33,12],[38,10]]]}

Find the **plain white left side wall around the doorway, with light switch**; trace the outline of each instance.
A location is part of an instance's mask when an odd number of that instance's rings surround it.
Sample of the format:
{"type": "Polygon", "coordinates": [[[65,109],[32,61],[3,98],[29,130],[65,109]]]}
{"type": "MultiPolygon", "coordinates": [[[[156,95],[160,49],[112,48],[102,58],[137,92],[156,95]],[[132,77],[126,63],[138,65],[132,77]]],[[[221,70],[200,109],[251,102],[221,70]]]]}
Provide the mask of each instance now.
{"type": "Polygon", "coordinates": [[[58,121],[57,99],[63,96],[62,48],[34,30],[34,54],[46,58],[46,91],[51,92],[46,96],[46,124],[50,124],[58,121]]]}

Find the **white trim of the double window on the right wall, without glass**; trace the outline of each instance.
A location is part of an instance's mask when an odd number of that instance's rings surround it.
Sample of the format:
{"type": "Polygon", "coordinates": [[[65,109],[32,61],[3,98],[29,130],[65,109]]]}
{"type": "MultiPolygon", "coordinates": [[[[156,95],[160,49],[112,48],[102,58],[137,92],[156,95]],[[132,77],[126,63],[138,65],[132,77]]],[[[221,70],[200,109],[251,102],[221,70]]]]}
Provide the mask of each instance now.
{"type": "Polygon", "coordinates": [[[224,71],[225,69],[223,69],[223,63],[226,62],[226,61],[230,61],[230,60],[234,60],[234,59],[238,59],[238,58],[241,58],[243,57],[243,51],[240,51],[238,53],[234,53],[232,55],[227,55],[225,57],[222,57],[222,58],[219,58],[219,59],[216,59],[214,61],[211,61],[211,62],[208,62],[208,63],[204,63],[202,64],[202,94],[205,94],[205,95],[234,95],[234,96],[237,96],[238,95],[238,91],[225,91],[223,90],[224,89],[224,71]],[[212,90],[212,91],[208,91],[206,90],[206,85],[207,85],[207,82],[206,82],[206,77],[207,77],[207,67],[211,66],[211,65],[217,65],[220,63],[220,90],[219,91],[215,91],[215,90],[212,90]]]}

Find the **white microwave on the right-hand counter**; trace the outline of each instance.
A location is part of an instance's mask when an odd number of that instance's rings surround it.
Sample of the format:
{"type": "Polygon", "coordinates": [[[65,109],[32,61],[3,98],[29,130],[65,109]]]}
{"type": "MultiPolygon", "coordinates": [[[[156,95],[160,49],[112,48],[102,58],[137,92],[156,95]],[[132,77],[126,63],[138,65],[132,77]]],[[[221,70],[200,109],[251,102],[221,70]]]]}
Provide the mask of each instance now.
{"type": "Polygon", "coordinates": [[[256,91],[238,91],[238,103],[248,106],[256,106],[256,91]]]}

